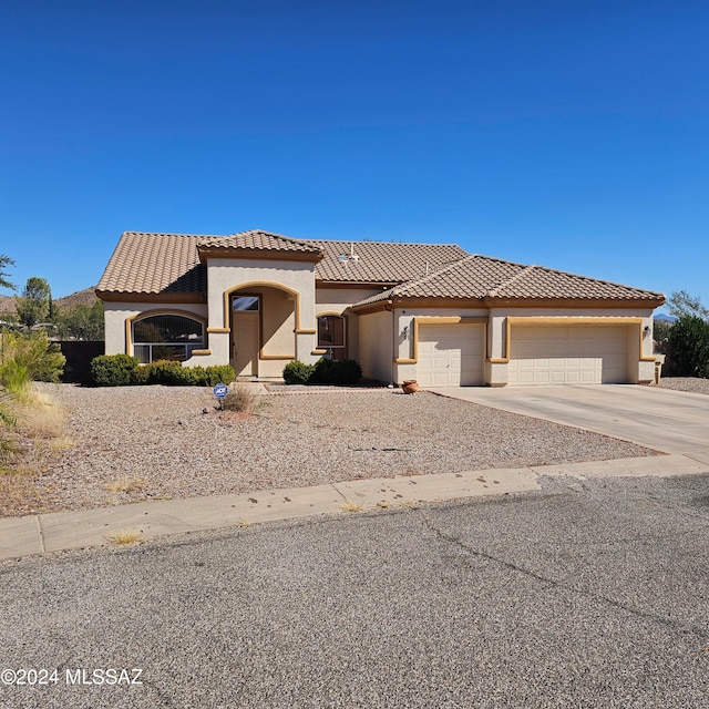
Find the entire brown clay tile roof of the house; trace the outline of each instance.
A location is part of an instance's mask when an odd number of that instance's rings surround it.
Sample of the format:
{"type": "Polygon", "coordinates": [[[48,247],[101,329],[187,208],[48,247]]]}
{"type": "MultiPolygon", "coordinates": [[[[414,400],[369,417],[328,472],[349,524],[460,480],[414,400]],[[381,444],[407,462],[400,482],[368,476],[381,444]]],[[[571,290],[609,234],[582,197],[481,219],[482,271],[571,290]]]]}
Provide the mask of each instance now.
{"type": "Polygon", "coordinates": [[[453,244],[291,239],[261,230],[230,236],[126,232],[121,236],[96,290],[100,294],[133,296],[204,296],[206,268],[199,261],[199,248],[322,256],[315,267],[316,278],[321,282],[394,285],[358,305],[388,298],[665,299],[662,294],[542,266],[467,255],[453,244]]]}

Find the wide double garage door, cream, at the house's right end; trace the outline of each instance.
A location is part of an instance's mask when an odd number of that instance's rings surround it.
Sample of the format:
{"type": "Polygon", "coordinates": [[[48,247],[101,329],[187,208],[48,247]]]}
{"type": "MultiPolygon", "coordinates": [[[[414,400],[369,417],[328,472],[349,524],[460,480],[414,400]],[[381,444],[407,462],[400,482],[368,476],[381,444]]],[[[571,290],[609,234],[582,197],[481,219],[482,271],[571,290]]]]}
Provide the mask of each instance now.
{"type": "Polygon", "coordinates": [[[624,326],[513,326],[511,384],[606,384],[628,381],[624,326]]]}

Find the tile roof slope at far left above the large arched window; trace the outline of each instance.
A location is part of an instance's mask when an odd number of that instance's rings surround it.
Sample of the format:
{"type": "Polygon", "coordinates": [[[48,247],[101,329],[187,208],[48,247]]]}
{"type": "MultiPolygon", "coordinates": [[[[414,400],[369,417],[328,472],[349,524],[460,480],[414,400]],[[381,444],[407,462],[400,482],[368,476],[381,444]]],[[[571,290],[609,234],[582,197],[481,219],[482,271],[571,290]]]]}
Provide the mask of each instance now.
{"type": "Polygon", "coordinates": [[[121,294],[206,292],[197,245],[212,236],[125,232],[96,290],[121,294]]]}

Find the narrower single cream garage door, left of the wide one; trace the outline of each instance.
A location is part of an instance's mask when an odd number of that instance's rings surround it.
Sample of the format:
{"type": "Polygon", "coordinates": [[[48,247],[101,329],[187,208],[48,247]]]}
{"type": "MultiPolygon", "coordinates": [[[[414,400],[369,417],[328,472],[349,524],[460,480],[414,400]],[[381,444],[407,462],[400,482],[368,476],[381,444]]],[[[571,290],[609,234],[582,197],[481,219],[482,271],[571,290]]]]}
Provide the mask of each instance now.
{"type": "Polygon", "coordinates": [[[417,377],[422,387],[483,383],[482,325],[422,325],[419,327],[417,377]]]}

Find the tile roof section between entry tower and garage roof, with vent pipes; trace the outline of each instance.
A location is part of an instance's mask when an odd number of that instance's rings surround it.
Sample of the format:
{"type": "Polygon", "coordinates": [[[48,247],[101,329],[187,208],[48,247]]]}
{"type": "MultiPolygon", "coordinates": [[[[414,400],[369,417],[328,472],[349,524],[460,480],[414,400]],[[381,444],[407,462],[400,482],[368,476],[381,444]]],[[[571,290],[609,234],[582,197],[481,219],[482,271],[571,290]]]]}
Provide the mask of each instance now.
{"type": "Polygon", "coordinates": [[[322,250],[316,278],[327,282],[398,284],[467,255],[455,244],[308,240],[322,250]]]}

